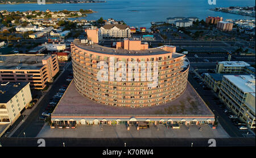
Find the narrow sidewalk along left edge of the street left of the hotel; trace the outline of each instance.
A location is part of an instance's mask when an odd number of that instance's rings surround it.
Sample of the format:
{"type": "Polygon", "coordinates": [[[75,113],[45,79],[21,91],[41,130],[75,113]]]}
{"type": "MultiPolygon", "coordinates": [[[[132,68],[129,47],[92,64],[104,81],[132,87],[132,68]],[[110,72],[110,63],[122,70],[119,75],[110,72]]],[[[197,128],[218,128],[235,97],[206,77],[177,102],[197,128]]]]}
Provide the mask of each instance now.
{"type": "MultiPolygon", "coordinates": [[[[49,86],[49,88],[45,91],[45,92],[49,92],[49,90],[51,90],[52,85],[59,79],[59,77],[61,76],[61,74],[63,74],[66,70],[66,68],[71,64],[71,62],[67,63],[64,68],[63,71],[59,74],[59,76],[55,79],[55,81],[52,82],[51,86],[49,86]]],[[[42,99],[44,98],[44,96],[47,93],[43,93],[42,97],[40,97],[40,99],[38,100],[38,102],[36,102],[36,104],[32,107],[32,109],[26,109],[23,111],[23,113],[21,115],[24,116],[24,119],[22,121],[19,122],[19,124],[14,128],[14,130],[7,136],[8,138],[10,138],[15,132],[16,130],[18,130],[18,128],[22,125],[23,122],[26,121],[26,119],[28,118],[28,116],[32,113],[32,111],[34,111],[34,109],[38,106],[38,104],[42,101],[42,99]]]]}

